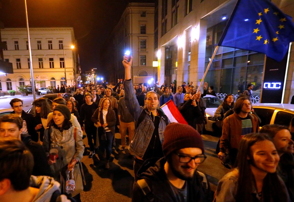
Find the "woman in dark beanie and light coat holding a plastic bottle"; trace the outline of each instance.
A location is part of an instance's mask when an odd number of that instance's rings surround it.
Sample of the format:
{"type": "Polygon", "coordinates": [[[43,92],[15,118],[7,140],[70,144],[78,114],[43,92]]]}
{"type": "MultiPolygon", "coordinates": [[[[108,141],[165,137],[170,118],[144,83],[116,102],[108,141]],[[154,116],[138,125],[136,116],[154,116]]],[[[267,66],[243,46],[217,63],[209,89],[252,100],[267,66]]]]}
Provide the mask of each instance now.
{"type": "Polygon", "coordinates": [[[60,191],[66,194],[67,170],[74,168],[75,190],[72,196],[80,201],[80,192],[83,190],[83,180],[79,163],[83,158],[83,132],[69,121],[71,113],[63,105],[57,105],[53,110],[53,118],[49,128],[45,130],[43,148],[49,157],[50,149],[57,149],[58,158],[48,158],[53,177],[60,183],[60,191]]]}

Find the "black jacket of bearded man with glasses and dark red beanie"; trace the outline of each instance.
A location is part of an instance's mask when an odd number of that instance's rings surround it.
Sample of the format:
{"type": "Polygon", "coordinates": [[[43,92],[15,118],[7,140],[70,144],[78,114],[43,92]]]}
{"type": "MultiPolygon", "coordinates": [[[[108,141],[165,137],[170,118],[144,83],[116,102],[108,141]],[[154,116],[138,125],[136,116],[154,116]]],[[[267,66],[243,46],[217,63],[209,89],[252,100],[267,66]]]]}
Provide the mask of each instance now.
{"type": "MultiPolygon", "coordinates": [[[[149,185],[152,191],[152,197],[154,198],[154,202],[176,202],[176,197],[174,196],[173,190],[170,187],[168,182],[166,173],[164,171],[164,164],[166,162],[165,158],[159,159],[155,166],[150,167],[152,164],[154,165],[155,159],[149,159],[144,162],[142,167],[138,171],[138,179],[144,178],[149,185]],[[147,168],[147,170],[146,170],[147,168]]],[[[204,202],[204,201],[212,201],[210,197],[210,187],[208,183],[208,192],[204,193],[204,188],[202,187],[203,178],[198,174],[198,172],[194,173],[194,177],[191,180],[187,180],[188,184],[188,202],[204,202]]],[[[137,184],[134,183],[133,186],[133,197],[132,202],[149,202],[150,200],[143,194],[141,188],[137,184]]]]}

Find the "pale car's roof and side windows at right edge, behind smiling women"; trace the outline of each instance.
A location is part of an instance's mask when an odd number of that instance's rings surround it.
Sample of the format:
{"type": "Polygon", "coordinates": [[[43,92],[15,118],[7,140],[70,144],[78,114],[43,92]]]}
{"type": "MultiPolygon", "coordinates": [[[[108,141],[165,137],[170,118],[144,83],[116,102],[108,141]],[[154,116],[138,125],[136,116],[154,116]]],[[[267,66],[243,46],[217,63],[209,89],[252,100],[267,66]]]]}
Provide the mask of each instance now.
{"type": "Polygon", "coordinates": [[[293,104],[262,103],[253,104],[253,109],[261,119],[260,127],[267,124],[290,125],[294,117],[293,104]]]}

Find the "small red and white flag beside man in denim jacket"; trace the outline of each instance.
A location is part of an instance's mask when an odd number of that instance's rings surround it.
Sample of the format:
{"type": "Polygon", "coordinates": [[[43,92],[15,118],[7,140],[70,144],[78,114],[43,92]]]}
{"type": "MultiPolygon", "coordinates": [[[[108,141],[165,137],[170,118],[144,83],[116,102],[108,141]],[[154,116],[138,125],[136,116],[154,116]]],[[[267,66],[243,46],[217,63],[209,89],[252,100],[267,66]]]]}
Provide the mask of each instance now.
{"type": "Polygon", "coordinates": [[[169,100],[167,103],[162,105],[160,107],[165,115],[167,116],[168,119],[170,119],[170,122],[172,123],[182,123],[182,124],[187,124],[186,120],[176,107],[175,103],[172,100],[169,100]]]}

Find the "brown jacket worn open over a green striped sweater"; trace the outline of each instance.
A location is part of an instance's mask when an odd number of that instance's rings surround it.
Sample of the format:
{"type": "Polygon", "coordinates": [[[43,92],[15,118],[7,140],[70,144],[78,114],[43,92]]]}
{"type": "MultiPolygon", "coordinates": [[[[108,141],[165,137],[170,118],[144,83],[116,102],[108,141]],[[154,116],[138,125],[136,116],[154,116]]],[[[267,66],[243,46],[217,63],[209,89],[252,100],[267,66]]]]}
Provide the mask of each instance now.
{"type": "MultiPolygon", "coordinates": [[[[252,132],[259,132],[257,116],[249,114],[252,122],[252,132]]],[[[223,120],[222,137],[220,137],[219,148],[221,152],[227,149],[238,149],[242,134],[242,120],[234,113],[223,120]]]]}

